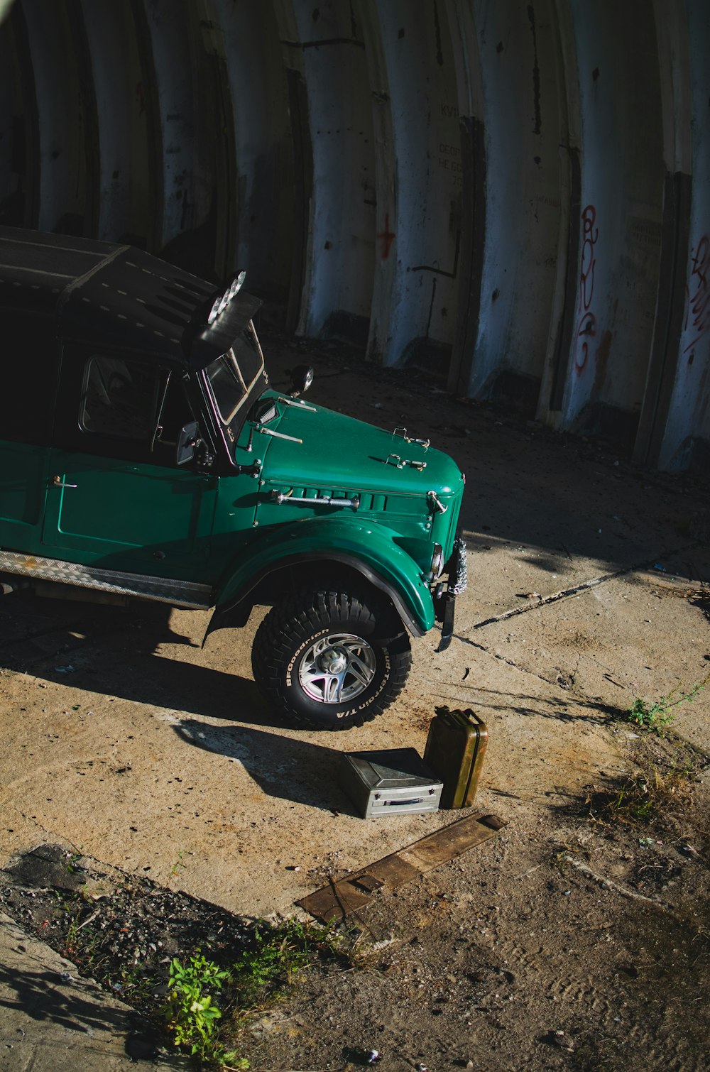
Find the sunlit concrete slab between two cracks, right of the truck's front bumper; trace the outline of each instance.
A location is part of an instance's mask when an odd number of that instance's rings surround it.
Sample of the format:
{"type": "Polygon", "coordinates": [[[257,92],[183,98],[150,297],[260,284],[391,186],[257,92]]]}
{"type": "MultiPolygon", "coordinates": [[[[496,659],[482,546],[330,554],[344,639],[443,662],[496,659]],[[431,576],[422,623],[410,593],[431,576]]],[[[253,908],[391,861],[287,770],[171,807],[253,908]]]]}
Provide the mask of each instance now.
{"type": "Polygon", "coordinates": [[[680,700],[674,729],[708,748],[708,622],[687,578],[632,570],[524,614],[475,629],[497,659],[547,681],[571,705],[591,697],[626,711],[639,697],[680,700]],[[682,697],[699,687],[692,702],[682,697]]]}

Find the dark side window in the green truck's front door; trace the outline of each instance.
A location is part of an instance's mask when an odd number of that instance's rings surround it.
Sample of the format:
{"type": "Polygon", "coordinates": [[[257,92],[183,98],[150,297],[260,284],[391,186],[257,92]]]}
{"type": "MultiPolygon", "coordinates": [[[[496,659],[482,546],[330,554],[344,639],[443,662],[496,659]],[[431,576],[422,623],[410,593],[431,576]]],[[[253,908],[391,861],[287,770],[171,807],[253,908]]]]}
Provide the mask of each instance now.
{"type": "Polygon", "coordinates": [[[94,354],[85,368],[79,427],[99,435],[152,442],[166,375],[139,361],[94,354]]]}

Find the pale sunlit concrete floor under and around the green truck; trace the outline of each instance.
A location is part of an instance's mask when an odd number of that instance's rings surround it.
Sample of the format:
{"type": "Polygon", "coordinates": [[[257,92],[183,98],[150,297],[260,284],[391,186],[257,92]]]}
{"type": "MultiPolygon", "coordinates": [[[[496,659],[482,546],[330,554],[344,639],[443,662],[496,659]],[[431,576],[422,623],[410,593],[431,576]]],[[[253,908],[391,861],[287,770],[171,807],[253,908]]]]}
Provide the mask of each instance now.
{"type": "MultiPolygon", "coordinates": [[[[291,362],[293,353],[282,357],[291,362]]],[[[662,611],[651,597],[665,639],[646,636],[642,619],[634,632],[646,590],[621,575],[640,577],[662,559],[670,568],[672,552],[695,562],[686,576],[706,583],[696,516],[707,495],[385,374],[378,384],[327,361],[321,372],[315,401],[383,427],[404,422],[468,474],[461,525],[470,586],[450,649],[434,655],[435,632],[417,640],[408,688],[374,723],[346,734],[302,731],[254,687],[257,615],[202,649],[204,612],[12,596],[0,607],[0,863],[63,843],[236,912],[287,912],[328,874],[448,821],[445,814],[360,819],[338,785],[340,751],[421,751],[437,704],[473,705],[490,726],[480,793],[495,810],[509,799],[501,793],[576,792],[600,771],[621,769],[608,710],[619,687],[604,678],[606,667],[611,676],[623,671],[624,698],[632,683],[663,691],[686,670],[695,678],[696,665],[684,660],[701,646],[697,608],[680,613],[677,600],[670,614],[676,600],[662,611]],[[534,609],[603,576],[618,580],[534,609]],[[495,621],[483,627],[488,619],[495,621]],[[620,649],[612,662],[607,656],[620,649]],[[653,659],[657,680],[644,676],[653,659]],[[579,674],[582,685],[573,693],[558,673],[579,674]]]]}

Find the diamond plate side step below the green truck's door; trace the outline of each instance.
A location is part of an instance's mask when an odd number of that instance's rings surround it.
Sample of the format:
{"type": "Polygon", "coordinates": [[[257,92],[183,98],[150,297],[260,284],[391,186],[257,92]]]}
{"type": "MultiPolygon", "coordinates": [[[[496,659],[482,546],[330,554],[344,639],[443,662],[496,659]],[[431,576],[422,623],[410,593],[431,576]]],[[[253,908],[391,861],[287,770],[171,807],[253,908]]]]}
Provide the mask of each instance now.
{"type": "Polygon", "coordinates": [[[59,584],[74,584],[98,592],[154,599],[158,602],[199,610],[212,606],[212,589],[209,584],[194,584],[191,581],[148,577],[143,574],[124,574],[116,569],[98,569],[95,566],[83,566],[60,559],[41,559],[17,551],[3,551],[1,548],[0,572],[18,574],[35,580],[57,581],[59,584]]]}

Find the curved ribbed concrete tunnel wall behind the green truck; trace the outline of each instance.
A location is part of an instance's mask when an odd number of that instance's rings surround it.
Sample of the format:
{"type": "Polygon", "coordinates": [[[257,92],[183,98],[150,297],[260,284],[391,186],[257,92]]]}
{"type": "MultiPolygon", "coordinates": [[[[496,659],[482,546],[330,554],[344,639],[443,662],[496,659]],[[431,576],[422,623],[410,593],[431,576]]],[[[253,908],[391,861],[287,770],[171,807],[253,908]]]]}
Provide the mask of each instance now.
{"type": "Polygon", "coordinates": [[[710,459],[705,0],[15,0],[0,222],[667,470],[710,459]]]}

